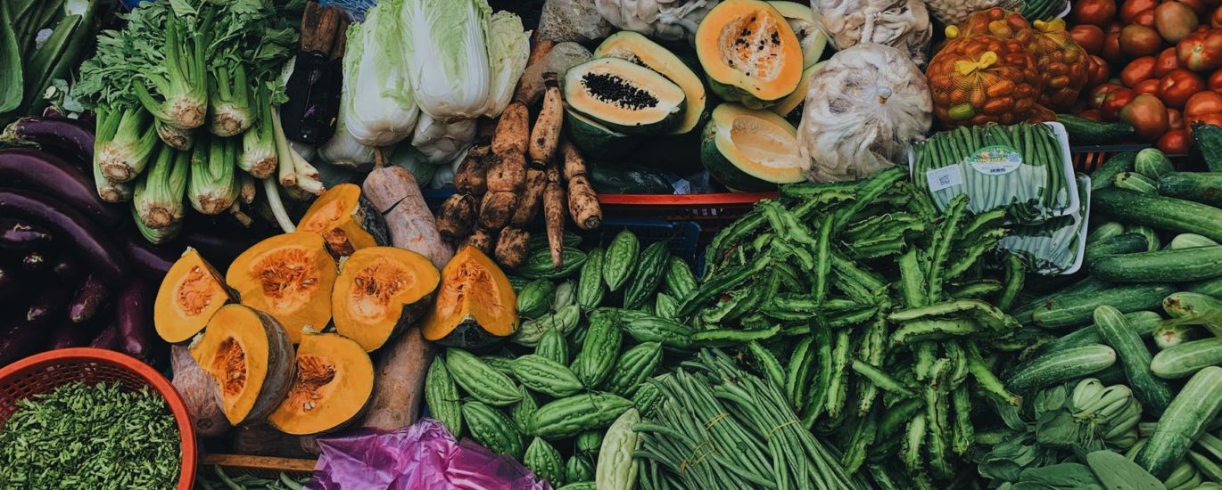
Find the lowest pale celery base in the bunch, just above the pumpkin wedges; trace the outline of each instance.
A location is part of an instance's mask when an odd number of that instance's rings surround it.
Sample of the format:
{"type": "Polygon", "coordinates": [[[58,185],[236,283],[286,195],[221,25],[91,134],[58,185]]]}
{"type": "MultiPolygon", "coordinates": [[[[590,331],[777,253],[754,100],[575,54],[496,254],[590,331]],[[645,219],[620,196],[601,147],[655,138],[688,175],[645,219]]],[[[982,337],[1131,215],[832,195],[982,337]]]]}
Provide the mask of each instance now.
{"type": "Polygon", "coordinates": [[[150,229],[164,229],[182,221],[186,213],[187,167],[191,154],[161,147],[153,169],[136,182],[132,202],[139,221],[150,229]]]}

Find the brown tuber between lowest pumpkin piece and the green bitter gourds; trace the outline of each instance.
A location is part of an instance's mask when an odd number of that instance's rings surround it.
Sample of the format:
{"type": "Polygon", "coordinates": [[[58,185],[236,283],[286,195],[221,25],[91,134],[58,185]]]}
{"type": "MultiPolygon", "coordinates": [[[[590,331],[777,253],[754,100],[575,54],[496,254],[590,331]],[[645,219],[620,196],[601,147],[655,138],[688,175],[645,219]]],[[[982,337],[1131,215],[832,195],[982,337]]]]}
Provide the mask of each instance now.
{"type": "Polygon", "coordinates": [[[424,375],[433,362],[433,345],[413,327],[382,347],[374,376],[374,393],[362,426],[397,430],[415,423],[424,398],[424,375]]]}

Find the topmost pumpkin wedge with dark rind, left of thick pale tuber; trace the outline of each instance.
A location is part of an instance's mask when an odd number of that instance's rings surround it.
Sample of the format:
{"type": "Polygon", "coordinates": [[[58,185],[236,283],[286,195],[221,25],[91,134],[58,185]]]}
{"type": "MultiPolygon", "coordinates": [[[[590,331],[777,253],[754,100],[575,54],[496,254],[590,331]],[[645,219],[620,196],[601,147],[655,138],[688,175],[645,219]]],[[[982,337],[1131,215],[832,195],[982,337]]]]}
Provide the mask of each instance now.
{"type": "Polygon", "coordinates": [[[297,231],[320,235],[335,257],[390,243],[381,213],[352,183],[331,187],[314,199],[297,231]]]}

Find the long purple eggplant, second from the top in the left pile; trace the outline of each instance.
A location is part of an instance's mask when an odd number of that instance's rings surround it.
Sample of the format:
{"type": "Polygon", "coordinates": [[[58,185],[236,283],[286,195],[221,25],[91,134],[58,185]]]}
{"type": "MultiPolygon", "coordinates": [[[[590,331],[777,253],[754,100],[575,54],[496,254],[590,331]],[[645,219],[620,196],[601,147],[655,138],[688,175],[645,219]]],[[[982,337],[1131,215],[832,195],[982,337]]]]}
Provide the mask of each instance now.
{"type": "Polygon", "coordinates": [[[0,150],[0,182],[7,186],[11,181],[54,196],[104,227],[117,226],[126,219],[122,207],[98,197],[93,176],[50,153],[29,148],[0,150]]]}

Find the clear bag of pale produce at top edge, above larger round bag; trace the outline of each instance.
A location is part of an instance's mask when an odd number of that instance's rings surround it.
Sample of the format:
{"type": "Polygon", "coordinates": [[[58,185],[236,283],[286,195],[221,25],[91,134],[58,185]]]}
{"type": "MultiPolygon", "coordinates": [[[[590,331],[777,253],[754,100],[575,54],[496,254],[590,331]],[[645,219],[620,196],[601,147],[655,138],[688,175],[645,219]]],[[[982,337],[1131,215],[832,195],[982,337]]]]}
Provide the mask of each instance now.
{"type": "Polygon", "coordinates": [[[921,0],[811,0],[810,9],[837,50],[877,43],[904,50],[918,66],[929,60],[934,26],[921,0]]]}

